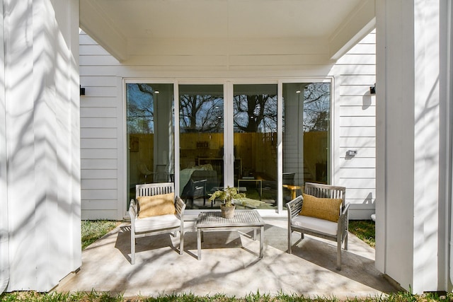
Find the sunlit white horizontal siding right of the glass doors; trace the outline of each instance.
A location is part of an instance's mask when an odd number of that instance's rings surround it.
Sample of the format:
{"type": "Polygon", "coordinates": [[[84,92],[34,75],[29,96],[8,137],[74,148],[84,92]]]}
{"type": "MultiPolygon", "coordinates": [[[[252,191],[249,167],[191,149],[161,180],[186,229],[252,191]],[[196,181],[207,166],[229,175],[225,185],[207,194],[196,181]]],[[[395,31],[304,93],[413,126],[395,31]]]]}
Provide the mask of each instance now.
{"type": "Polygon", "coordinates": [[[334,104],[334,180],[345,186],[350,219],[370,219],[376,196],[376,82],[374,32],[338,59],[334,104]],[[353,157],[348,150],[357,151],[353,157]]]}

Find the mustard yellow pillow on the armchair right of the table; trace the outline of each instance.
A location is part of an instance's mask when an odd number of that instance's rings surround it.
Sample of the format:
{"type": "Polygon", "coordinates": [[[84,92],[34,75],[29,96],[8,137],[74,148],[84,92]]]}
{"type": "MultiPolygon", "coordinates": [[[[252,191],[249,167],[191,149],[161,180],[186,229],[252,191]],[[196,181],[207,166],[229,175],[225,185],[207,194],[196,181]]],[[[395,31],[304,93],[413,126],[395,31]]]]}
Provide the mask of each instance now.
{"type": "Polygon", "coordinates": [[[340,205],[343,199],[318,198],[302,194],[304,202],[300,215],[337,222],[340,217],[340,205]]]}

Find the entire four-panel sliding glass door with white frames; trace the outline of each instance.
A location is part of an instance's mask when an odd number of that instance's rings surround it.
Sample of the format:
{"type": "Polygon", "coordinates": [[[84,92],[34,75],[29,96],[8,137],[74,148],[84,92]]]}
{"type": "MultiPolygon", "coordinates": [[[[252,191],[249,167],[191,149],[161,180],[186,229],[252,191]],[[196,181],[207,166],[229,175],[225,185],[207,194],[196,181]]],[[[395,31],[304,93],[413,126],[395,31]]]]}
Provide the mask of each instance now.
{"type": "Polygon", "coordinates": [[[246,193],[239,208],[285,209],[305,182],[331,180],[330,81],[127,83],[126,97],[129,200],[176,181],[187,209],[218,208],[207,199],[226,185],[246,193]]]}

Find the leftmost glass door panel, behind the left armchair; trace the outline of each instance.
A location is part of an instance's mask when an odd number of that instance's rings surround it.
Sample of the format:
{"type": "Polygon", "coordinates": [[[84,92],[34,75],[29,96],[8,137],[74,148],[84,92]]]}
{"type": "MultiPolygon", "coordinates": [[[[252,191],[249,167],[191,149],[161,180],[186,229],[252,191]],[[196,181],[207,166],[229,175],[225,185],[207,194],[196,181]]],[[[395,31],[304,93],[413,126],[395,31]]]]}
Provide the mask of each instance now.
{"type": "Polygon", "coordinates": [[[127,200],[137,184],[173,179],[173,100],[173,84],[126,84],[127,200]]]}

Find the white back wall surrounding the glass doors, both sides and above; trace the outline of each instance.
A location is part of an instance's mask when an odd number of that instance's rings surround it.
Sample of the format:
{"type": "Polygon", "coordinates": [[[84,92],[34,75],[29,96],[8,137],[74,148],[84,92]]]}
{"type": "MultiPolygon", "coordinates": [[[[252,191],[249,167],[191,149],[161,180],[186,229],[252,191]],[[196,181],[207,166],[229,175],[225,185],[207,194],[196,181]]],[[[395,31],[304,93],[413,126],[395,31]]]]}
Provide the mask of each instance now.
{"type": "Polygon", "coordinates": [[[129,59],[117,62],[85,33],[80,35],[82,219],[125,215],[122,79],[324,79],[334,77],[337,185],[348,187],[352,219],[369,219],[375,194],[375,38],[367,35],[334,64],[319,41],[165,40],[128,43],[129,59]],[[345,151],[357,156],[345,159],[345,151]],[[364,210],[365,209],[365,210],[364,210]]]}

